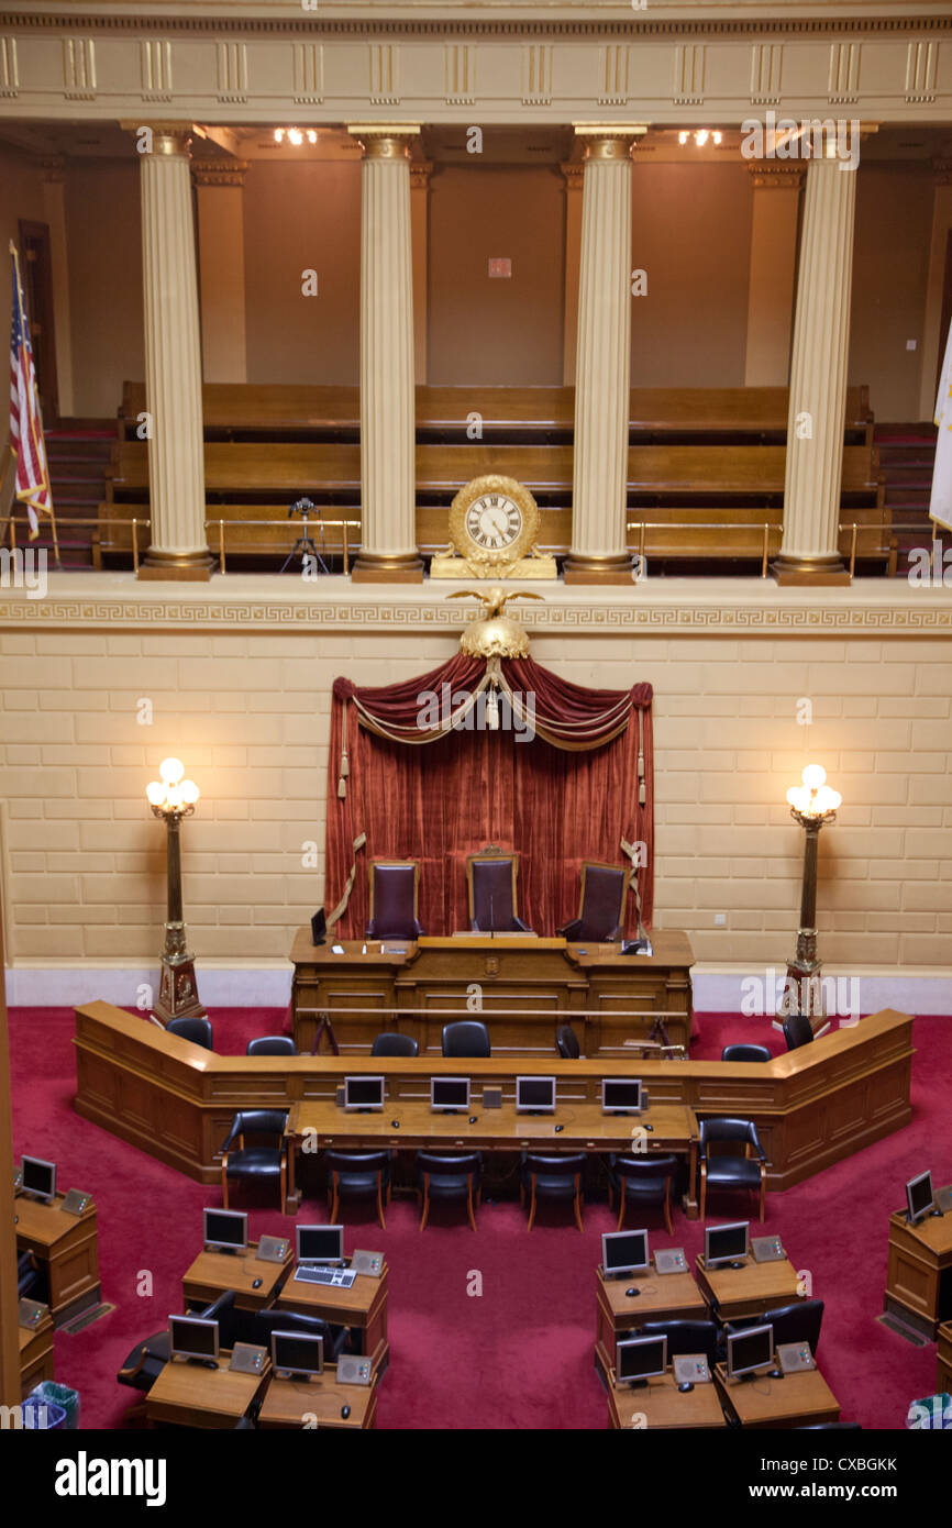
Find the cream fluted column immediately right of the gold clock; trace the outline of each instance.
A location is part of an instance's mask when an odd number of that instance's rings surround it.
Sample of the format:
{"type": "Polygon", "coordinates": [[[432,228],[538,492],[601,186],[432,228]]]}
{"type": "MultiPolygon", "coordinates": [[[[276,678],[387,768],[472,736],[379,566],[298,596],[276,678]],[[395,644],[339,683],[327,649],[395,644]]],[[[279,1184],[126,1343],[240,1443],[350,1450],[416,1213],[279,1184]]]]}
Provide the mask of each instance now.
{"type": "Polygon", "coordinates": [[[582,188],[575,468],[567,584],[628,584],[631,144],[643,127],[576,125],[582,188]]]}

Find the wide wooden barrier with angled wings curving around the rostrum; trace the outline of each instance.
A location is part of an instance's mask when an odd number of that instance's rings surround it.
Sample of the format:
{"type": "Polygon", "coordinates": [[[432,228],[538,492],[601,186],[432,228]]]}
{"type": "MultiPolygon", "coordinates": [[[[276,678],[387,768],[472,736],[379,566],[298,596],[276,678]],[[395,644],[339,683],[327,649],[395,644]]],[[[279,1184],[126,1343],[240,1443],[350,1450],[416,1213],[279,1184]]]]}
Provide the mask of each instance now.
{"type": "MultiPolygon", "coordinates": [[[[492,1038],[492,1013],[484,1012],[483,1018],[492,1038]]],[[[546,1138],[552,1148],[568,1151],[591,1141],[593,1149],[605,1151],[630,1146],[640,1122],[601,1112],[602,1077],[642,1077],[649,1108],[659,1117],[666,1106],[680,1106],[688,1125],[685,1111],[695,1118],[737,1114],[753,1120],[767,1154],[767,1189],[773,1193],[902,1129],[912,1117],[912,1019],[894,1008],[831,1030],[769,1062],[634,1060],[617,1054],[562,1060],[555,1048],[544,1059],[510,1053],[484,1060],[222,1056],[108,1002],[76,1008],[75,1047],[76,1112],[208,1184],[220,1183],[222,1143],[235,1111],[251,1108],[287,1109],[289,1128],[310,1123],[319,1137],[384,1138],[397,1148],[439,1138],[448,1146],[463,1140],[518,1151],[523,1141],[538,1144],[546,1138]],[[336,1108],[336,1089],[348,1073],[385,1076],[382,1115],[347,1115],[336,1108]],[[480,1115],[475,1126],[469,1126],[468,1115],[429,1112],[429,1079],[460,1074],[472,1079],[478,1103],[471,1112],[480,1115]],[[516,1076],[556,1079],[555,1118],[509,1118],[516,1076]],[[483,1108],[484,1085],[503,1088],[503,1109],[483,1108]],[[307,1115],[307,1111],[315,1112],[307,1115]],[[399,1131],[391,1129],[393,1118],[400,1118],[399,1131]],[[556,1135],[558,1123],[565,1129],[556,1135]]],[[[660,1146],[662,1131],[652,1132],[648,1143],[656,1143],[656,1137],[660,1146]]],[[[688,1140],[682,1134],[682,1149],[691,1148],[689,1132],[688,1140]]]]}

